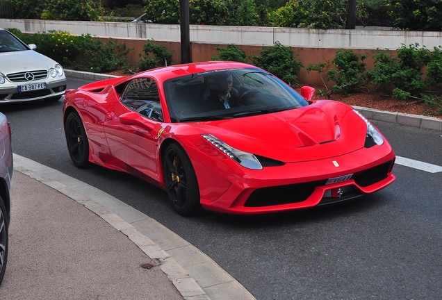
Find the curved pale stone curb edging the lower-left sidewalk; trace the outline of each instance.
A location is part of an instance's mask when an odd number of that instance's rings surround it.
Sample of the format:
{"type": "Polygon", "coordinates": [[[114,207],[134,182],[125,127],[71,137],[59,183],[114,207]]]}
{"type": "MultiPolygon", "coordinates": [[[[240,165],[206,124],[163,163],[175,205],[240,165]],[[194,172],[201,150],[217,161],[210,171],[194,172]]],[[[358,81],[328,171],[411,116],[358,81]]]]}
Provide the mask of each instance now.
{"type": "Polygon", "coordinates": [[[186,300],[255,300],[234,277],[152,217],[92,185],[13,154],[14,169],[81,203],[126,235],[160,268],[186,300]]]}

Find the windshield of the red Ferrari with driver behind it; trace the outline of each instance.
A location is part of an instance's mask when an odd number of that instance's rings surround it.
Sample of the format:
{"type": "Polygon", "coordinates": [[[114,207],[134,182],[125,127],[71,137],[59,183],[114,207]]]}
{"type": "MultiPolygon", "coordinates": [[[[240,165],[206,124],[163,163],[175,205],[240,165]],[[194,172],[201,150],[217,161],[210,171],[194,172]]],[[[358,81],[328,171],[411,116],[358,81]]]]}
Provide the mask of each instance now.
{"type": "Polygon", "coordinates": [[[261,69],[222,69],[164,83],[172,122],[209,121],[274,113],[309,105],[290,86],[261,69]]]}

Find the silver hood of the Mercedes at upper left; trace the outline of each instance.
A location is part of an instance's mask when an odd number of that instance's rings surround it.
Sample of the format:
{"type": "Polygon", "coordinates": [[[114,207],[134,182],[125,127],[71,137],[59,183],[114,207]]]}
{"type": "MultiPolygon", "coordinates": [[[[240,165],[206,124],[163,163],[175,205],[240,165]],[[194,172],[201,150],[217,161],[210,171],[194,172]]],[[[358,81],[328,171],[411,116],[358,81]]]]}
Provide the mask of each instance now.
{"type": "Polygon", "coordinates": [[[35,70],[49,70],[56,61],[33,50],[0,53],[3,74],[13,74],[35,70]]]}

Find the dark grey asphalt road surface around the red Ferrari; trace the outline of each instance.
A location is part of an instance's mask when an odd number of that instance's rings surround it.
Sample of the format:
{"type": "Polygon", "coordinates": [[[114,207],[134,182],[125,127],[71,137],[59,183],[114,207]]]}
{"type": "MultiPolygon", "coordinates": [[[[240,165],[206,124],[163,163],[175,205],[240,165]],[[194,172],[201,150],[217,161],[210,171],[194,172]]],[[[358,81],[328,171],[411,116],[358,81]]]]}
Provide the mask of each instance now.
{"type": "MultiPolygon", "coordinates": [[[[85,81],[69,79],[68,88],[85,81]]],[[[441,299],[442,172],[396,165],[377,194],[327,208],[238,217],[175,214],[163,190],[101,167],[76,169],[61,101],[1,106],[13,150],[153,217],[213,258],[257,299],[441,299]]],[[[376,122],[405,158],[442,166],[442,132],[376,122]]]]}

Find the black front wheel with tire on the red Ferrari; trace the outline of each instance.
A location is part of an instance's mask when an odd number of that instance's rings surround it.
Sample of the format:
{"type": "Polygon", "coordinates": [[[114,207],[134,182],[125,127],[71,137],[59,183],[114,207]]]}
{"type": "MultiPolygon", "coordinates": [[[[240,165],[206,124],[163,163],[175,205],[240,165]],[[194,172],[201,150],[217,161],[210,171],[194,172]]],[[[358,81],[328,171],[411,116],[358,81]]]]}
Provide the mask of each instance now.
{"type": "Polygon", "coordinates": [[[196,215],[202,211],[199,187],[192,163],[177,144],[170,144],[163,156],[164,182],[170,203],[180,215],[196,215]]]}

